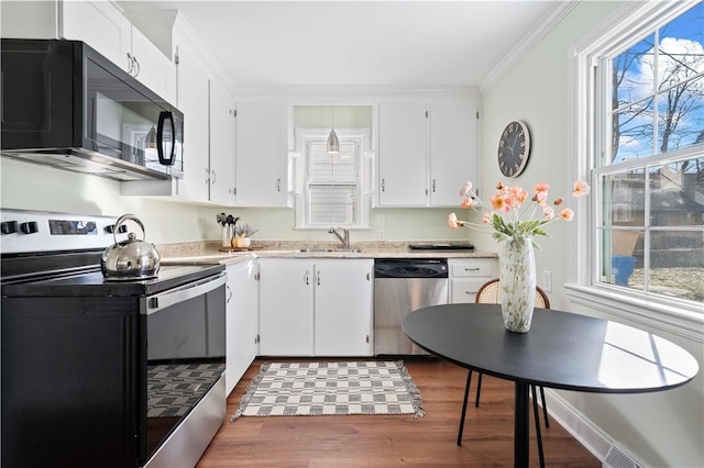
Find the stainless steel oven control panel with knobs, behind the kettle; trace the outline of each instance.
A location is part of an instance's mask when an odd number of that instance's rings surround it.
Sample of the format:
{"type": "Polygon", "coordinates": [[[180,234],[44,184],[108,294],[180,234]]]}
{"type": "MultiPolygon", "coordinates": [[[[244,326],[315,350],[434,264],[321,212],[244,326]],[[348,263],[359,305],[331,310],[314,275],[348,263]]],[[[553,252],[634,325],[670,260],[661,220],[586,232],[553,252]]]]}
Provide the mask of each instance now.
{"type": "Polygon", "coordinates": [[[119,216],[54,213],[46,211],[0,211],[0,249],[3,254],[106,248],[127,238],[122,224],[113,237],[119,216]]]}

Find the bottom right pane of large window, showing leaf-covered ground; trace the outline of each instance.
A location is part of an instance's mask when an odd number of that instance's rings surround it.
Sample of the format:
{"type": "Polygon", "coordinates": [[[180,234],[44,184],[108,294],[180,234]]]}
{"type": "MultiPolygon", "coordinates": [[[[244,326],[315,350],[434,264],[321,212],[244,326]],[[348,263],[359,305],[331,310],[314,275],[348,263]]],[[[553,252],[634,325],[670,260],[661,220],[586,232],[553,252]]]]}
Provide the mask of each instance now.
{"type": "Polygon", "coordinates": [[[653,232],[651,237],[648,290],[704,302],[704,229],[653,232]]]}

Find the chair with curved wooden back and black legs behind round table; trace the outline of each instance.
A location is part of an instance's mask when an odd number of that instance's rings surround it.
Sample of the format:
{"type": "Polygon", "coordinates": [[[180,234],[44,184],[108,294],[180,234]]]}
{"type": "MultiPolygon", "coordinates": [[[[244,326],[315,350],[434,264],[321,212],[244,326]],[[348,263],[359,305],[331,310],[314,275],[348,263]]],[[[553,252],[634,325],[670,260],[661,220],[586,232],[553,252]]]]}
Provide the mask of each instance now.
{"type": "MultiPolygon", "coordinates": [[[[501,303],[499,298],[499,283],[498,278],[492,279],[480,288],[476,292],[476,297],[474,302],[477,303],[486,303],[486,304],[498,304],[501,303]]],[[[550,300],[546,292],[540,289],[540,287],[536,286],[536,305],[541,309],[550,309],[550,300]]],[[[464,426],[464,416],[466,413],[466,401],[470,395],[470,383],[472,382],[472,369],[468,372],[466,376],[466,387],[464,388],[464,402],[462,403],[462,421],[460,421],[460,433],[458,435],[458,445],[462,445],[462,430],[464,426]]],[[[482,391],[482,372],[480,372],[480,378],[476,385],[476,398],[474,400],[474,406],[479,408],[480,405],[480,393],[482,391]]],[[[536,434],[538,439],[538,452],[540,455],[540,467],[544,467],[544,457],[542,454],[542,437],[540,436],[540,417],[538,412],[538,402],[536,400],[536,386],[530,386],[530,393],[532,398],[532,409],[534,415],[536,420],[536,434]]],[[[540,399],[542,400],[542,412],[543,419],[546,422],[546,427],[550,427],[550,422],[548,420],[548,406],[546,404],[546,393],[542,387],[540,387],[540,399]]]]}

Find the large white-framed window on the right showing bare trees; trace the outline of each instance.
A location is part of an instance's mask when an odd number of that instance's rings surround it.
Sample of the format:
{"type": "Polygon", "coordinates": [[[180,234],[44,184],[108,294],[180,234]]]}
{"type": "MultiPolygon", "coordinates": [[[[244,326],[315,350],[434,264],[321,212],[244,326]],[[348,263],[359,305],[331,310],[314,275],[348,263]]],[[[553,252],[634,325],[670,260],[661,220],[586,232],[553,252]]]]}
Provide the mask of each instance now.
{"type": "Polygon", "coordinates": [[[704,3],[653,3],[624,14],[572,64],[575,112],[591,116],[575,118],[574,171],[594,188],[595,215],[580,235],[597,253],[580,263],[581,282],[701,313],[704,3]]]}

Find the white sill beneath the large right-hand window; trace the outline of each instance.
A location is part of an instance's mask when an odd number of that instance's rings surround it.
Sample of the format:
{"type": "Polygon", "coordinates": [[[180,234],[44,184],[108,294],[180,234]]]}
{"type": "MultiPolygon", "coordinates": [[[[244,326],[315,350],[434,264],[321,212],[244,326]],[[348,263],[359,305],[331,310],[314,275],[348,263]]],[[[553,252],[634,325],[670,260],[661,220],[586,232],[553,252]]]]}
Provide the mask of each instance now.
{"type": "Polygon", "coordinates": [[[570,301],[704,343],[704,307],[658,302],[610,288],[565,285],[570,301]]]}

